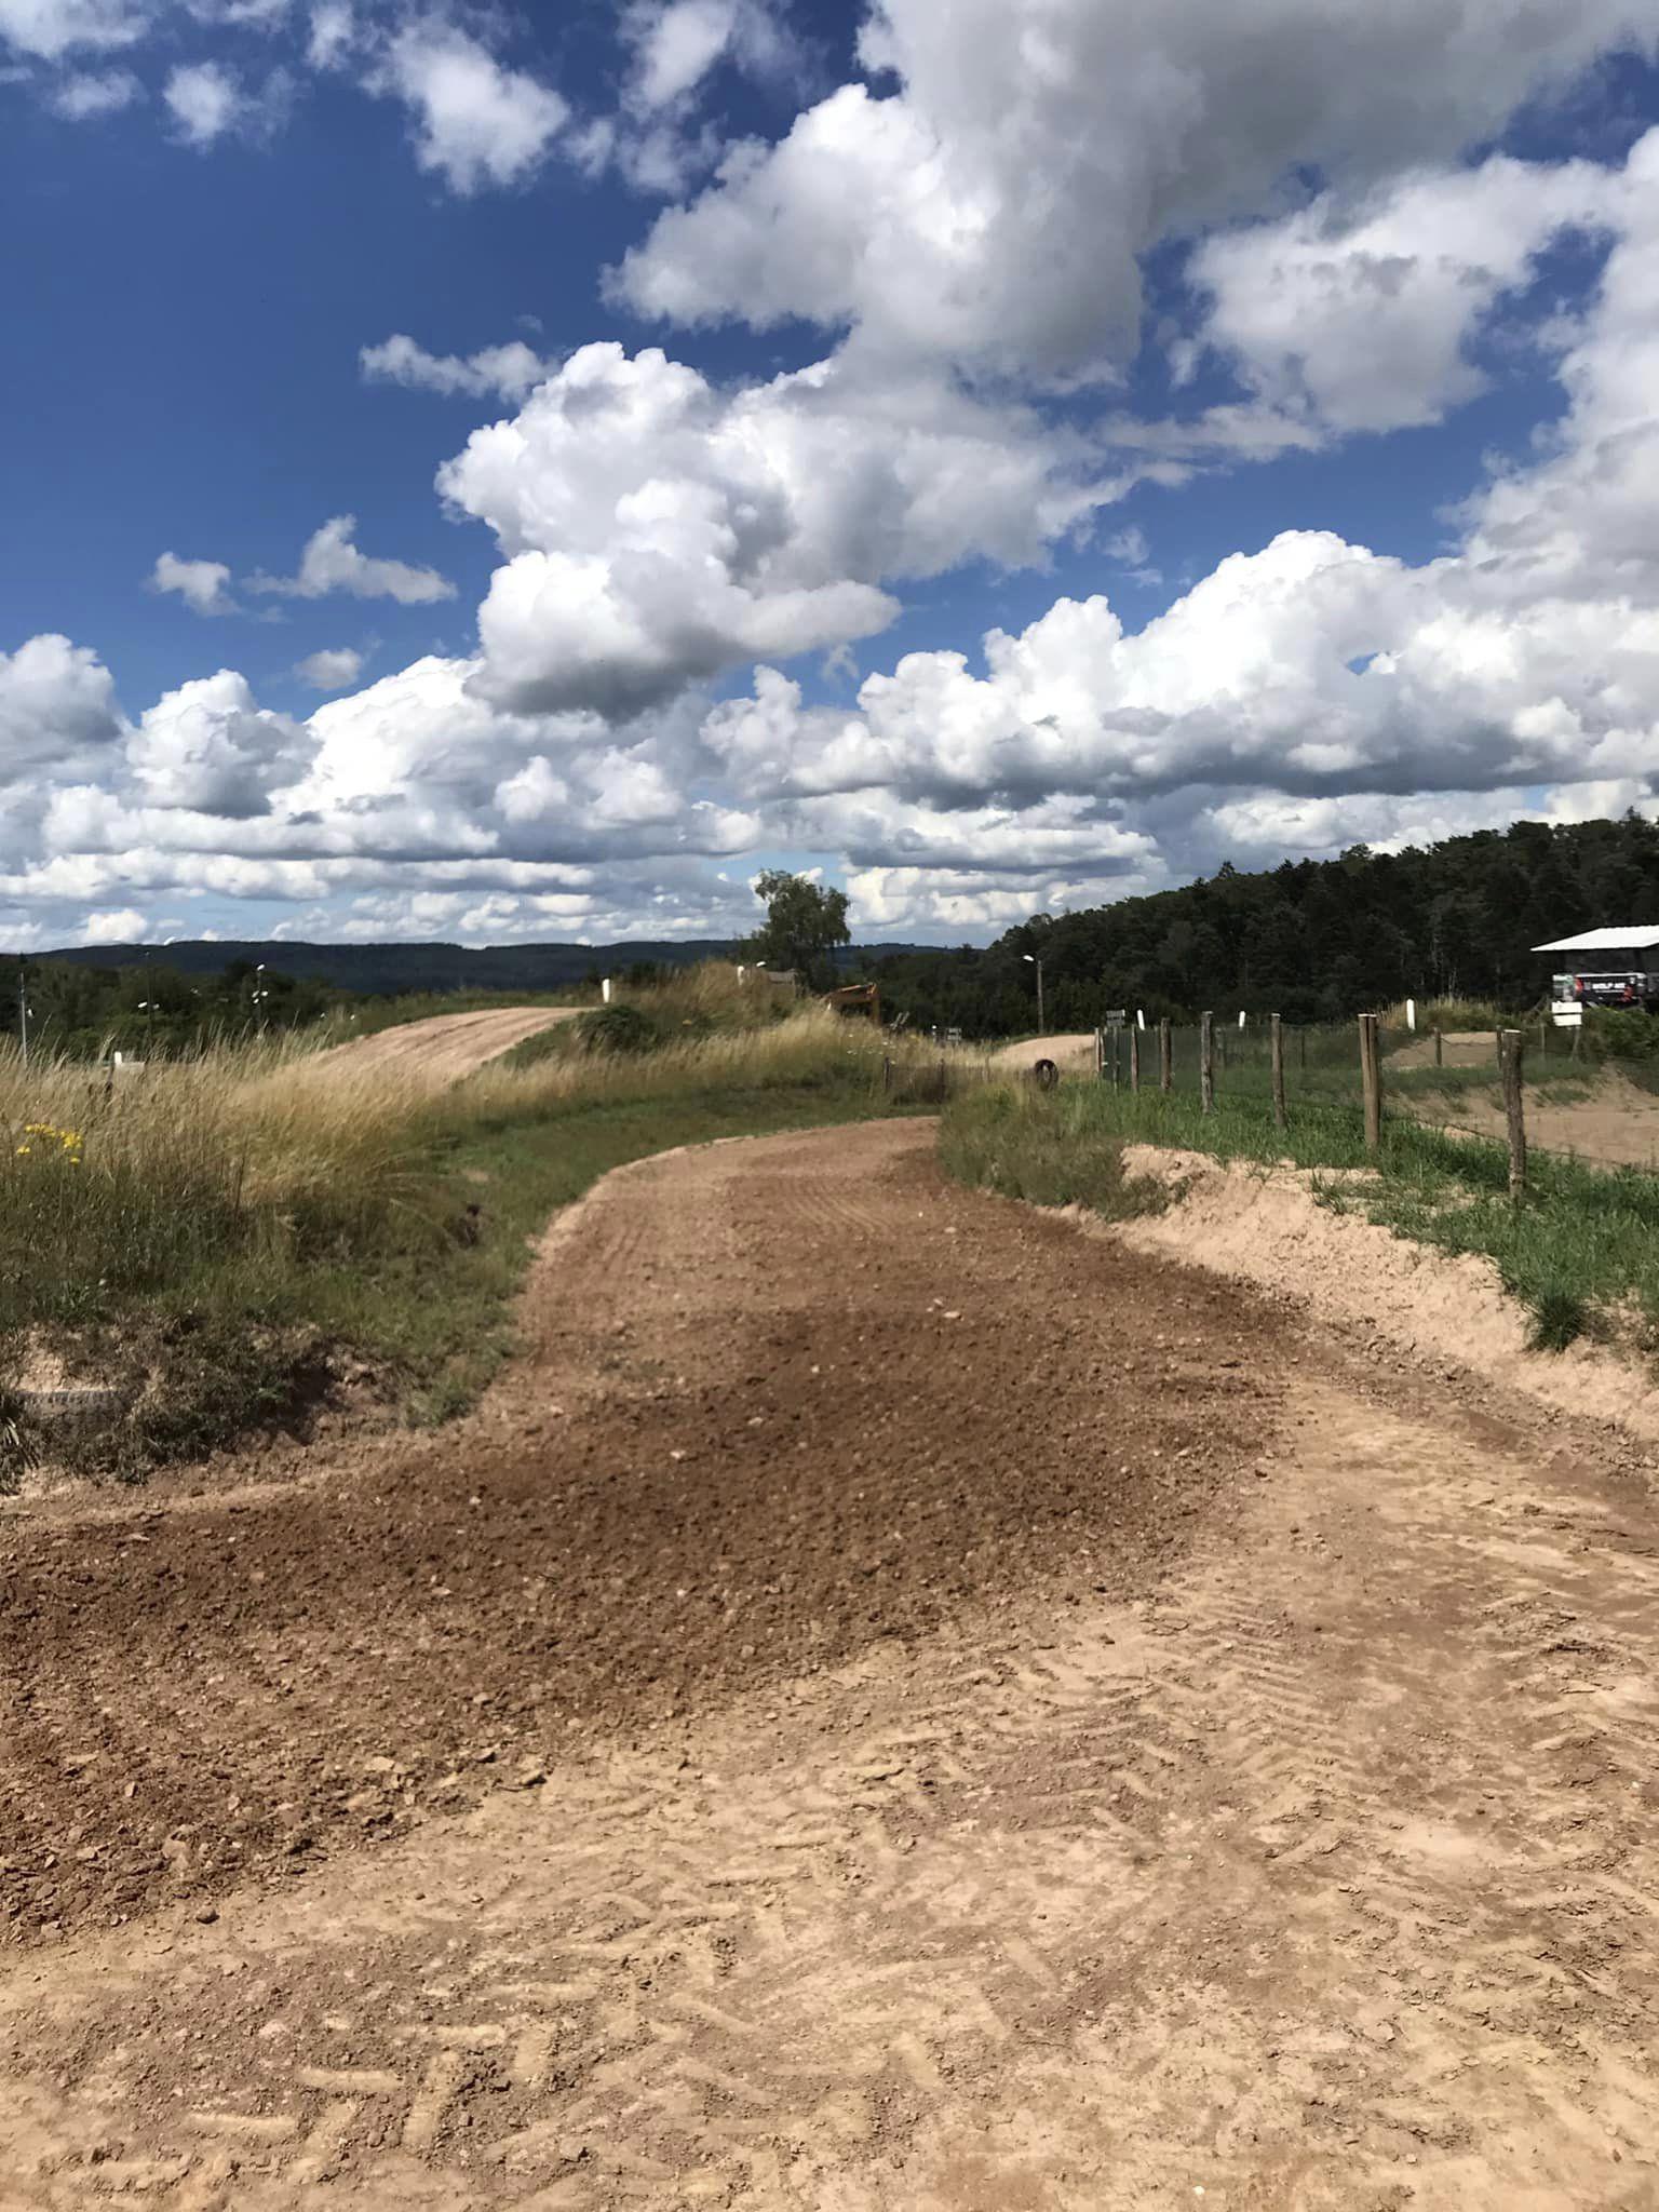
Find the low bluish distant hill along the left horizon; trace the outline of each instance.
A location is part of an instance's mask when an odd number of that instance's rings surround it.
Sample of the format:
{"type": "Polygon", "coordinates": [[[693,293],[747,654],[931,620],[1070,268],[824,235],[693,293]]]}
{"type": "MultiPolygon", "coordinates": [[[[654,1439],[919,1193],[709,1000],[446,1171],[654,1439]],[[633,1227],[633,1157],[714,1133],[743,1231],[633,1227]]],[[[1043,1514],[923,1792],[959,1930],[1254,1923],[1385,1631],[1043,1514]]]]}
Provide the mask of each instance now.
{"type": "MultiPolygon", "coordinates": [[[[918,951],[911,945],[849,947],[843,960],[858,967],[918,951]]],[[[584,975],[613,975],[650,962],[681,967],[692,960],[730,960],[730,938],[637,938],[622,945],[301,945],[294,940],[237,942],[230,938],[177,940],[173,945],[66,945],[35,953],[35,960],[69,960],[77,967],[137,967],[146,953],[181,975],[221,975],[234,960],[261,962],[283,975],[332,982],[343,991],[374,998],[405,991],[560,991],[584,975]]]]}

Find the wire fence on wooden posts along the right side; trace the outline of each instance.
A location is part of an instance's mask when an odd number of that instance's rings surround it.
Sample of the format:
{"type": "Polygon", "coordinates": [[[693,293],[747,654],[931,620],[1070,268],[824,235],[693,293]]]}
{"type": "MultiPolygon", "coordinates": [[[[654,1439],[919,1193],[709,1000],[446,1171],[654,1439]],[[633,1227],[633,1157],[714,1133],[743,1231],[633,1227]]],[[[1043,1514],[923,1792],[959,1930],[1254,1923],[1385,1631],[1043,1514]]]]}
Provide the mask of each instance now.
{"type": "MultiPolygon", "coordinates": [[[[1409,1124],[1455,1137],[1511,1144],[1524,1155],[1577,1161],[1613,1172],[1659,1175],[1659,1057],[1601,1057],[1582,1031],[1528,1022],[1520,1040],[1517,1110],[1504,1084],[1502,1033],[1433,1031],[1376,1022],[1376,1110],[1380,1124],[1409,1124]]],[[[1657,1031],[1659,1042],[1659,1031],[1657,1031]]],[[[1119,1091],[1168,1091],[1214,1106],[1274,1108],[1274,1024],[1270,1020],[1177,1022],[1106,1029],[1084,1075],[1119,1091]]],[[[1358,1022],[1279,1026],[1283,1119],[1332,1135],[1365,1135],[1365,1055],[1358,1022]]]]}

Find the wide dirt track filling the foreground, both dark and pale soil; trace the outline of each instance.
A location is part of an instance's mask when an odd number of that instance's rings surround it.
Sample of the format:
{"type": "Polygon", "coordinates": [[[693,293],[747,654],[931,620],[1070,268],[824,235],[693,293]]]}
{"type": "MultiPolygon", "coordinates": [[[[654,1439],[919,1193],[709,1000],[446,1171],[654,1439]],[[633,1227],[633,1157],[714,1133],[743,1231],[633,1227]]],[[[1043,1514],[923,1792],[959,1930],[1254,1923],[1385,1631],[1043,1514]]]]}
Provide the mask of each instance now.
{"type": "Polygon", "coordinates": [[[0,2212],[1659,2203],[1635,1447],[918,1121],[608,1177],[526,1321],[0,1520],[0,2212]]]}

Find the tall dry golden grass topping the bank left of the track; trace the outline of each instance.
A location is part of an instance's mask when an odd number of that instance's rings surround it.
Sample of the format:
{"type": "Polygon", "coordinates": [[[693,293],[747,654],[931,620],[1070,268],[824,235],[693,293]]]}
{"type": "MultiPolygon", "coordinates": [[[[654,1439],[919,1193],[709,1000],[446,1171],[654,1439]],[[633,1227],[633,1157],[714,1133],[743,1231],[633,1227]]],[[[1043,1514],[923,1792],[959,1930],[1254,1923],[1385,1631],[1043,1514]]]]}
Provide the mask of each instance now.
{"type": "Polygon", "coordinates": [[[442,1164],[478,1133],[706,1093],[863,1086],[876,1099],[896,1051],[816,1004],[761,1013],[730,969],[688,971],[653,998],[661,1022],[684,1009],[686,1031],[664,1029],[650,1053],[493,1062],[436,1093],[396,1060],[285,1037],[113,1084],[0,1048],[0,1336],[192,1283],[232,1279],[257,1298],[261,1279],[296,1265],[352,1267],[453,1234],[442,1164]],[[73,1144],[31,1141],[31,1124],[73,1144]]]}

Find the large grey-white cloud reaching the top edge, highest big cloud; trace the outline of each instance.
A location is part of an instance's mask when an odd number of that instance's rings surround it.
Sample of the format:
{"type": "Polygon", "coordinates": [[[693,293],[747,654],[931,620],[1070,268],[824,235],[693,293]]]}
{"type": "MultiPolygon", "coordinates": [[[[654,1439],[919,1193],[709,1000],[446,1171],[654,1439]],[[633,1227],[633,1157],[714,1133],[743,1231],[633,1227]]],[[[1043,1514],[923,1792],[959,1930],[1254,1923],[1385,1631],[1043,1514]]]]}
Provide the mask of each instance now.
{"type": "Polygon", "coordinates": [[[670,321],[847,325],[880,358],[1102,374],[1161,237],[1259,212],[1298,164],[1363,186],[1455,155],[1652,38],[1632,0],[880,0],[860,60],[898,88],[734,146],[617,288],[670,321]]]}

